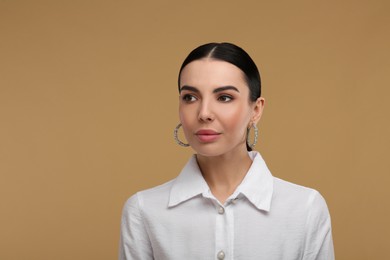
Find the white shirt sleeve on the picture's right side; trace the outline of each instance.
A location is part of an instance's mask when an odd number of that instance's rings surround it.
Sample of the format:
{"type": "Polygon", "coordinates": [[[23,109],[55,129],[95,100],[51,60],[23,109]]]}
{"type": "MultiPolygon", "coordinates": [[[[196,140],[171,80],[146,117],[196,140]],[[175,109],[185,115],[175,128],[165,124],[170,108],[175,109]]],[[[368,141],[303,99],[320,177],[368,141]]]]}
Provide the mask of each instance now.
{"type": "Polygon", "coordinates": [[[309,202],[303,260],[334,260],[331,220],[325,199],[317,191],[309,202]]]}

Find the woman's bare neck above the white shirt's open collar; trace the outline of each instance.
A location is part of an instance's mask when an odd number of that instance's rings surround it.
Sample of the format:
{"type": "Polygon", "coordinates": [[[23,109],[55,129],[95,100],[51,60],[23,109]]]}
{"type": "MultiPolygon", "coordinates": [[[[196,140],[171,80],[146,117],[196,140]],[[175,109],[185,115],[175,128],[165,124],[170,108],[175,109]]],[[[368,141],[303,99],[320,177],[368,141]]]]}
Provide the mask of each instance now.
{"type": "Polygon", "coordinates": [[[252,160],[246,150],[219,156],[196,156],[199,168],[213,195],[224,204],[244,179],[252,160]]]}

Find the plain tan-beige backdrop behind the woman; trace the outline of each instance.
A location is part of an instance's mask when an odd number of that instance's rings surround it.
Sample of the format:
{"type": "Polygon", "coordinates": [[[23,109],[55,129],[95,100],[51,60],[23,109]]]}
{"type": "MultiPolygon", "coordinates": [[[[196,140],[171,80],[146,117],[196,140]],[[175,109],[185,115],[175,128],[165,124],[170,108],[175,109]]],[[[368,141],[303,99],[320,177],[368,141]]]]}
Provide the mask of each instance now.
{"type": "Polygon", "coordinates": [[[261,151],[318,189],[337,259],[390,259],[390,2],[0,0],[0,259],[115,259],[122,205],[175,177],[177,71],[261,69],[261,151]]]}

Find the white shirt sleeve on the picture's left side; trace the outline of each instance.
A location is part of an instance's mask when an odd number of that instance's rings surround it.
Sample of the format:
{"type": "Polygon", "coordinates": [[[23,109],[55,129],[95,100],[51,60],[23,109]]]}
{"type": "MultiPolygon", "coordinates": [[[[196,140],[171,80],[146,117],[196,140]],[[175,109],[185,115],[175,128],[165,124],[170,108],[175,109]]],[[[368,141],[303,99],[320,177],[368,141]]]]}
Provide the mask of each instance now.
{"type": "Polygon", "coordinates": [[[120,233],[119,260],[153,259],[138,194],[129,198],[123,207],[120,233]]]}

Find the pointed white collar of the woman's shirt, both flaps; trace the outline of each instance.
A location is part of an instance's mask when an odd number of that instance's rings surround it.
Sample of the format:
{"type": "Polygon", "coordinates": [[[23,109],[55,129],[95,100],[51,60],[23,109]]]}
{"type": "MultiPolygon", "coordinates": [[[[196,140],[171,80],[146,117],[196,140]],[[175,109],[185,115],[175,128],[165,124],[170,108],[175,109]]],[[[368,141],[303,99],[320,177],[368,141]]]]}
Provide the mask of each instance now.
{"type": "MultiPolygon", "coordinates": [[[[273,177],[258,152],[249,152],[252,165],[233,196],[244,195],[256,208],[269,211],[273,193],[273,177]]],[[[210,189],[199,169],[195,155],[175,179],[169,197],[169,207],[176,206],[199,194],[209,194],[210,189]]]]}

